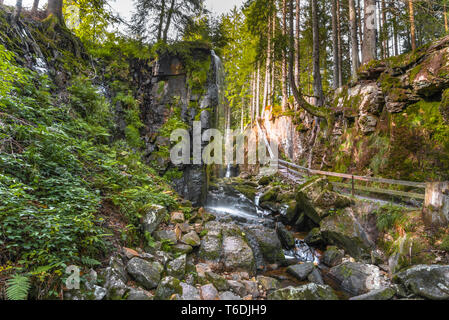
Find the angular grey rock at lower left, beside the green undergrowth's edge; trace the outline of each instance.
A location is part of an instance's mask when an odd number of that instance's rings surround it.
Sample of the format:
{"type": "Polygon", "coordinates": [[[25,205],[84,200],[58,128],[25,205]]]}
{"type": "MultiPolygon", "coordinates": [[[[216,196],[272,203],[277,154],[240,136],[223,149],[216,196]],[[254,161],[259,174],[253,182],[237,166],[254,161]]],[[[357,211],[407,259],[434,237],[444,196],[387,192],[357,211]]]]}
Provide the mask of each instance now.
{"type": "Polygon", "coordinates": [[[145,289],[157,287],[164,267],[158,262],[148,262],[140,258],[132,258],[126,269],[128,273],[145,289]]]}

